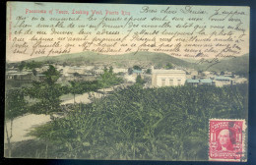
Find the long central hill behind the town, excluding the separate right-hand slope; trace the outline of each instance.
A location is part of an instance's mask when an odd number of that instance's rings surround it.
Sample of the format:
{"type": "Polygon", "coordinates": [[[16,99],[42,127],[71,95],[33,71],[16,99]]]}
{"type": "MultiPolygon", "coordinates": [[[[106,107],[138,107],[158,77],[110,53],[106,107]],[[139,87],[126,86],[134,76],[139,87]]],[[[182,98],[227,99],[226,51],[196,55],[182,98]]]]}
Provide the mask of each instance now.
{"type": "Polygon", "coordinates": [[[88,51],[51,57],[38,57],[28,61],[32,60],[37,62],[66,62],[71,65],[108,64],[119,67],[132,67],[133,65],[141,65],[142,67],[150,67],[152,65],[163,66],[167,63],[171,63],[174,66],[188,68],[193,68],[195,66],[193,63],[183,61],[167,54],[153,52],[127,53],[123,55],[103,55],[88,51]]]}

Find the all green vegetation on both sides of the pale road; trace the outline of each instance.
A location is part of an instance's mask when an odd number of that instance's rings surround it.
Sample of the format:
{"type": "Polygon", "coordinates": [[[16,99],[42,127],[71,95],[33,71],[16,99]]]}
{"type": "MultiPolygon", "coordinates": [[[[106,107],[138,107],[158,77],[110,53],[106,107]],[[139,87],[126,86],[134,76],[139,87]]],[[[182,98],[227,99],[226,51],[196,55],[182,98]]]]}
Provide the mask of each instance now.
{"type": "MultiPolygon", "coordinates": [[[[65,86],[57,83],[60,73],[53,66],[43,75],[30,87],[6,91],[11,128],[13,120],[25,113],[61,111],[63,94],[74,94],[75,103],[75,94],[122,83],[111,67],[94,82],[65,86]]],[[[65,117],[32,131],[36,139],[27,145],[13,147],[11,129],[7,132],[9,157],[207,160],[209,119],[247,118],[245,84],[143,89],[143,83],[138,76],[133,86],[93,98],[91,104],[75,103],[65,117]]]]}

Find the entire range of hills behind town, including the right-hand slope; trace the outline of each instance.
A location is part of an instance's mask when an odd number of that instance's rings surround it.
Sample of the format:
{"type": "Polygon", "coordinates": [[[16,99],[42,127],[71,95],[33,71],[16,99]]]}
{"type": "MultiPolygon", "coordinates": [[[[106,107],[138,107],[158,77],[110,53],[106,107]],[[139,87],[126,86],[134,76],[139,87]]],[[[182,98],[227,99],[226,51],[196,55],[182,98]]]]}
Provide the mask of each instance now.
{"type": "MultiPolygon", "coordinates": [[[[169,56],[165,53],[154,53],[154,52],[138,52],[138,53],[127,53],[123,55],[104,55],[97,54],[95,52],[81,52],[73,54],[64,54],[59,56],[49,57],[37,57],[28,61],[38,62],[52,62],[52,63],[68,63],[71,65],[84,65],[84,64],[105,64],[118,67],[132,67],[134,65],[140,65],[145,68],[151,66],[161,67],[167,63],[171,63],[173,66],[182,68],[192,68],[196,70],[205,71],[210,64],[196,64],[194,59],[179,59],[169,56]],[[189,62],[191,61],[191,62],[189,62]]],[[[230,71],[234,73],[246,74],[249,71],[249,54],[245,54],[236,58],[228,58],[221,60],[221,63],[213,65],[208,71],[230,71]]]]}

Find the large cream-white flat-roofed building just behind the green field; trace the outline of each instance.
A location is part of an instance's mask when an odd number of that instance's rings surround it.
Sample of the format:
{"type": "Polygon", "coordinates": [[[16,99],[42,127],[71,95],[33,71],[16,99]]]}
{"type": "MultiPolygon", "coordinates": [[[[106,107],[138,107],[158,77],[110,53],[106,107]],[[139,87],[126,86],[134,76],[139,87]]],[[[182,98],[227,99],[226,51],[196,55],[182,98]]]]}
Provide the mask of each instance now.
{"type": "Polygon", "coordinates": [[[186,82],[186,73],[182,70],[154,70],[152,68],[152,85],[177,86],[184,85],[186,82]]]}

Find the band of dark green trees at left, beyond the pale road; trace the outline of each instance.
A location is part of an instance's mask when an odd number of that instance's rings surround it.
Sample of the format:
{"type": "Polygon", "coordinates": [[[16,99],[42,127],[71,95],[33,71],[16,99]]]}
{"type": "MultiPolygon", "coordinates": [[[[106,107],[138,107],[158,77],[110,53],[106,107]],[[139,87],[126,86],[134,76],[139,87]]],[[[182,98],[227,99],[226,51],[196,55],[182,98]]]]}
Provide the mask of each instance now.
{"type": "MultiPolygon", "coordinates": [[[[23,62],[22,64],[29,63],[23,62]]],[[[63,94],[72,93],[75,103],[75,94],[96,91],[99,88],[122,83],[122,79],[113,73],[111,67],[105,68],[97,81],[70,82],[70,85],[57,83],[61,74],[52,65],[49,65],[48,70],[42,74],[44,75],[42,79],[33,81],[32,85],[28,87],[8,87],[6,89],[5,117],[6,121],[11,123],[10,129],[6,128],[9,157],[12,156],[12,130],[15,118],[27,113],[52,115],[62,110],[60,96],[63,94]]]]}

